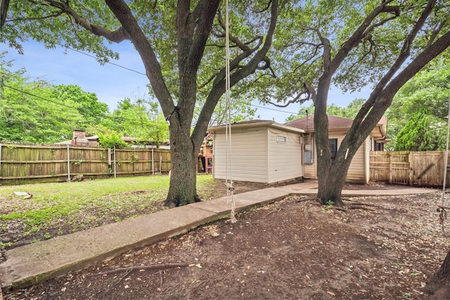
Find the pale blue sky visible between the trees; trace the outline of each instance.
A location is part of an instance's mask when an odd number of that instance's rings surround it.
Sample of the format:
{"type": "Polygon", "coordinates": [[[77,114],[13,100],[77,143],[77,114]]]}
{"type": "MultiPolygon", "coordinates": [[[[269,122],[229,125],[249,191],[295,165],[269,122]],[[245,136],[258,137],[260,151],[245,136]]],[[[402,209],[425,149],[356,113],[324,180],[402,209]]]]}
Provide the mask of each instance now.
{"type": "MultiPolygon", "coordinates": [[[[32,79],[44,79],[51,84],[80,86],[84,91],[96,93],[98,100],[108,104],[111,111],[124,98],[146,97],[148,79],[143,74],[116,65],[100,65],[95,58],[72,50],[65,51],[64,48],[46,49],[42,44],[32,41],[23,46],[25,51],[23,56],[5,44],[0,44],[0,52],[8,51],[5,58],[15,60],[13,69],[25,67],[32,79]]],[[[129,41],[114,44],[113,47],[120,53],[120,60],[112,60],[111,63],[145,73],[141,58],[129,41]]],[[[329,103],[344,107],[355,98],[367,98],[369,93],[368,89],[363,89],[359,93],[344,95],[339,89],[332,89],[329,93],[329,103]]],[[[279,123],[284,123],[290,112],[296,113],[300,108],[300,105],[280,108],[274,105],[254,104],[271,108],[267,110],[257,107],[256,115],[259,119],[274,119],[279,123]]],[[[310,101],[306,103],[307,106],[310,104],[310,101]]]]}

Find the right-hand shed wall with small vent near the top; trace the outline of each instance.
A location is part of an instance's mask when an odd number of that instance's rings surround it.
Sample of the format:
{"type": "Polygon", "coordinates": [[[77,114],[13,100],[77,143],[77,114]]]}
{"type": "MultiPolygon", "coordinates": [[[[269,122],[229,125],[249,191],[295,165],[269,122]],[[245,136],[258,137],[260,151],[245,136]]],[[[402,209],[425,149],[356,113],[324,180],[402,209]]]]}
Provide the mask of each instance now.
{"type": "Polygon", "coordinates": [[[268,137],[268,183],[303,176],[300,134],[269,128],[268,137]],[[278,142],[278,136],[285,137],[285,143],[278,142]]]}

